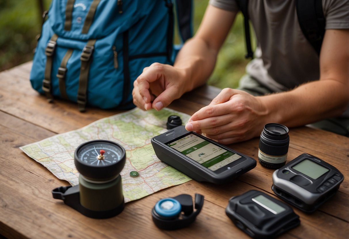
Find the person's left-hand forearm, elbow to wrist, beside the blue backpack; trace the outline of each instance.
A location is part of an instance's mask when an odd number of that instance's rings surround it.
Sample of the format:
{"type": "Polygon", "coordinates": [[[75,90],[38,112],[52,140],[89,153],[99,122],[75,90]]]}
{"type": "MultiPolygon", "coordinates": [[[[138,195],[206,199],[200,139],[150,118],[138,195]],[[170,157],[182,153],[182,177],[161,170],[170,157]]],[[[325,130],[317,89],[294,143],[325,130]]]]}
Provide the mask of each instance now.
{"type": "Polygon", "coordinates": [[[208,5],[198,31],[184,44],[174,62],[175,68],[183,70],[186,92],[204,84],[213,72],[218,51],[235,17],[236,12],[208,5]]]}

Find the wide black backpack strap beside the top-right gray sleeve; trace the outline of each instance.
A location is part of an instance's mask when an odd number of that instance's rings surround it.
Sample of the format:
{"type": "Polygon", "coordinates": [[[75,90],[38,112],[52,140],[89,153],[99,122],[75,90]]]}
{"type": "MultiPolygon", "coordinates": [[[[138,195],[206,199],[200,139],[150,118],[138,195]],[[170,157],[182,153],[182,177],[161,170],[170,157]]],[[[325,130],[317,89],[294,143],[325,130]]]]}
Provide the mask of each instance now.
{"type": "Polygon", "coordinates": [[[322,0],[296,0],[296,10],[305,38],[320,55],[326,24],[322,11],[322,0]]]}

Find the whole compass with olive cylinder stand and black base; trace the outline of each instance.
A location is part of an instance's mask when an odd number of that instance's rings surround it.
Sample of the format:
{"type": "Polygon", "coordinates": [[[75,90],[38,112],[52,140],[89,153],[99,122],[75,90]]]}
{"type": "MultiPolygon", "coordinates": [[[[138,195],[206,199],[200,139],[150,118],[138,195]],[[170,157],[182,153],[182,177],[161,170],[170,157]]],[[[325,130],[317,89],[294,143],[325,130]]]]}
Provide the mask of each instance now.
{"type": "Polygon", "coordinates": [[[125,208],[120,175],[125,161],[125,149],[116,142],[92,140],[81,144],[74,153],[79,185],[55,188],[53,198],[64,200],[88,217],[118,215],[125,208]]]}

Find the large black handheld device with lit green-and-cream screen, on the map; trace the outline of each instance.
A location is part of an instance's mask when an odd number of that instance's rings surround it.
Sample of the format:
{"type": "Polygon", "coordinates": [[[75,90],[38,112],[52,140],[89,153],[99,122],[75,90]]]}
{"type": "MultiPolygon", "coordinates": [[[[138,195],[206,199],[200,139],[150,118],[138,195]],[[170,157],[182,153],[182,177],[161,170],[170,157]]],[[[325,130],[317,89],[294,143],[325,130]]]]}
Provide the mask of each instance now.
{"type": "Polygon", "coordinates": [[[183,125],[151,139],[157,157],[200,182],[227,183],[253,169],[257,161],[183,125]]]}

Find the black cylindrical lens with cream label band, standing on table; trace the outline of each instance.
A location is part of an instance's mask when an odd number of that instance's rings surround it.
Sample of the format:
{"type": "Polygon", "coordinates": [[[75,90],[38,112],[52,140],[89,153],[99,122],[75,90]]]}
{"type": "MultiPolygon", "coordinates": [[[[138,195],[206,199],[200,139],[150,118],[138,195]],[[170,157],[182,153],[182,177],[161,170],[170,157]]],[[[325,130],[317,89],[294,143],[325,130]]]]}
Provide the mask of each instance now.
{"type": "Polygon", "coordinates": [[[259,140],[258,161],[267,168],[278,169],[287,160],[290,137],[282,124],[269,123],[263,128],[259,140]]]}

